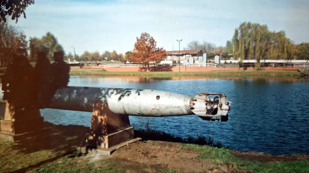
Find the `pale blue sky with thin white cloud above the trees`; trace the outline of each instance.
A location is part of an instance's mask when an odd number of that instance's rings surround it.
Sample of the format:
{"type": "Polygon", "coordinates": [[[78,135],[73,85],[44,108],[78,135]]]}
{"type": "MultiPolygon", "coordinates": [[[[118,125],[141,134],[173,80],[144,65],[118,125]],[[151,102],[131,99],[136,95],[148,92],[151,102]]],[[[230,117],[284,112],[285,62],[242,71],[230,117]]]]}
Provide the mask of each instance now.
{"type": "Polygon", "coordinates": [[[133,50],[147,32],[157,46],[178,50],[192,40],[224,46],[244,21],[285,30],[296,43],[309,42],[307,0],[35,0],[27,19],[10,24],[27,37],[53,33],[66,52],[133,50]]]}

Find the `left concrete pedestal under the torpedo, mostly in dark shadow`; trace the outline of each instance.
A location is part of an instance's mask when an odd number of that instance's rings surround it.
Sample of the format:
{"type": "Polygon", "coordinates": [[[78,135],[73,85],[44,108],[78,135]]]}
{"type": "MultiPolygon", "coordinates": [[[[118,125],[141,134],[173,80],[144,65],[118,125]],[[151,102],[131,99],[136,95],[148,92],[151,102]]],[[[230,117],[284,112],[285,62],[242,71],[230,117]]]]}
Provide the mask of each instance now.
{"type": "Polygon", "coordinates": [[[44,117],[40,109],[15,112],[12,105],[6,103],[4,120],[1,120],[0,138],[6,140],[19,140],[29,132],[39,131],[44,128],[44,117]]]}

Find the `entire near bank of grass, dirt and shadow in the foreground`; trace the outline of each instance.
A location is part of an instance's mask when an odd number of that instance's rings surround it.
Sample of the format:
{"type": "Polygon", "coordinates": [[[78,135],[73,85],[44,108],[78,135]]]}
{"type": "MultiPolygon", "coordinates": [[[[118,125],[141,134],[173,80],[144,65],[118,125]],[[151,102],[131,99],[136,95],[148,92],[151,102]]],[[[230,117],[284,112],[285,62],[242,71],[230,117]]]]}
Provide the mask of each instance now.
{"type": "Polygon", "coordinates": [[[233,151],[212,147],[212,138],[180,139],[149,126],[135,130],[135,137],[143,138],[143,142],[129,144],[110,156],[83,155],[73,149],[84,145],[89,127],[51,123],[46,126],[49,131],[30,139],[15,143],[0,139],[0,172],[301,173],[309,170],[308,155],[233,151]],[[177,142],[181,140],[185,143],[177,142]]]}

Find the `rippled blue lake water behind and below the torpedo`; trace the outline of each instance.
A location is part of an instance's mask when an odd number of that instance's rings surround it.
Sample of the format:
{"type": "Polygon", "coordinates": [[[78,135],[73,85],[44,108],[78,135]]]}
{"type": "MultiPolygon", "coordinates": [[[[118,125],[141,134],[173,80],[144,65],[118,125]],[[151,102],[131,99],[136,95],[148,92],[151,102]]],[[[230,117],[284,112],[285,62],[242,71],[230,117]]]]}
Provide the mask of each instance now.
{"type": "MultiPolygon", "coordinates": [[[[270,154],[309,154],[309,82],[298,79],[149,78],[71,76],[70,86],[153,89],[195,96],[225,93],[232,101],[228,122],[204,121],[196,115],[179,117],[129,116],[131,124],[185,137],[197,133],[240,151],[270,154]]],[[[91,112],[41,110],[55,124],[90,126],[91,112]]]]}

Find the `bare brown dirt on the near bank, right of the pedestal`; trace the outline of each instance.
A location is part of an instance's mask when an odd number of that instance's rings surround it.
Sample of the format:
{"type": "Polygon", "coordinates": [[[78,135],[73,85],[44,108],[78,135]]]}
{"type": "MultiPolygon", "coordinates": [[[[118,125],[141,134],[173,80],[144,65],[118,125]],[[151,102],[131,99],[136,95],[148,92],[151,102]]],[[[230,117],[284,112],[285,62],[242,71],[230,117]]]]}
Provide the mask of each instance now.
{"type": "MultiPolygon", "coordinates": [[[[239,170],[234,165],[211,167],[211,163],[198,159],[198,151],[177,147],[181,143],[162,141],[137,142],[116,150],[110,156],[96,156],[93,159],[107,159],[125,165],[127,172],[162,172],[162,166],[174,168],[183,172],[207,173],[248,173],[239,170]]],[[[309,156],[273,156],[267,153],[239,152],[232,154],[239,159],[258,160],[260,162],[309,160],[309,156]]]]}

